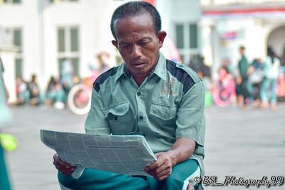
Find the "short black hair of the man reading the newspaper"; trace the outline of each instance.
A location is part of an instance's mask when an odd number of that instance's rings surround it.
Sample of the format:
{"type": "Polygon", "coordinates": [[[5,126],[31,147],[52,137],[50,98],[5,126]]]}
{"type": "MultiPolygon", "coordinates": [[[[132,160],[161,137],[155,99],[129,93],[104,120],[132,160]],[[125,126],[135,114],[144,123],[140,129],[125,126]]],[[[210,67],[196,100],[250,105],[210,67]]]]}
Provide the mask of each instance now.
{"type": "Polygon", "coordinates": [[[152,17],[152,23],[153,27],[155,28],[155,32],[159,33],[161,31],[161,19],[157,9],[155,9],[152,4],[149,4],[144,1],[130,1],[119,6],[113,12],[110,28],[114,38],[117,39],[115,35],[115,21],[117,21],[118,19],[122,19],[126,16],[138,16],[146,12],[149,13],[152,17]]]}

